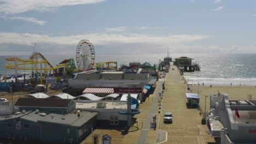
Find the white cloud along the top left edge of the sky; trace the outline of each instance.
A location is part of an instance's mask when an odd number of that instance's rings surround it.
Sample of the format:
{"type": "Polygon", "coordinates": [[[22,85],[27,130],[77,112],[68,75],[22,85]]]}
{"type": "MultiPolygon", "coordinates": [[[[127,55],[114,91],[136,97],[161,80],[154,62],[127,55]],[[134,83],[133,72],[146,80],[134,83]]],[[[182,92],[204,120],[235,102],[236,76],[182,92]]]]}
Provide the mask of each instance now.
{"type": "Polygon", "coordinates": [[[0,13],[19,14],[30,10],[48,11],[61,6],[100,3],[104,0],[0,0],[0,13]]]}

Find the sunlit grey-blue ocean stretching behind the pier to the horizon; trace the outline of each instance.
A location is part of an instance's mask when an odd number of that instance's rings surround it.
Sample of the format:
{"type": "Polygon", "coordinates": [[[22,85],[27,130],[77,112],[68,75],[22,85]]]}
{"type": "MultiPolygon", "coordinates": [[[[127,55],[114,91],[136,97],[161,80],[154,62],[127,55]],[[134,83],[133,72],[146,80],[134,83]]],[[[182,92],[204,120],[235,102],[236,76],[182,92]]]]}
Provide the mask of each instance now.
{"type": "MultiPolygon", "coordinates": [[[[42,53],[43,54],[43,53],[42,53]]],[[[188,83],[204,83],[204,85],[246,85],[256,86],[256,54],[195,54],[195,53],[177,53],[169,54],[172,58],[186,56],[193,58],[193,62],[199,63],[200,71],[193,73],[184,73],[184,78],[188,83]]],[[[150,64],[159,64],[167,54],[150,55],[95,55],[95,62],[117,61],[121,64],[129,65],[129,62],[149,62],[150,64]]],[[[4,61],[7,57],[0,56],[0,74],[4,75],[4,61]]],[[[15,56],[22,59],[28,59],[29,56],[15,56]]],[[[44,55],[46,59],[55,66],[64,59],[73,58],[75,55],[44,55]]],[[[10,62],[9,62],[10,63],[10,62]]],[[[31,71],[19,70],[18,73],[31,73],[31,71]]],[[[7,74],[15,74],[12,69],[7,69],[7,74]]]]}

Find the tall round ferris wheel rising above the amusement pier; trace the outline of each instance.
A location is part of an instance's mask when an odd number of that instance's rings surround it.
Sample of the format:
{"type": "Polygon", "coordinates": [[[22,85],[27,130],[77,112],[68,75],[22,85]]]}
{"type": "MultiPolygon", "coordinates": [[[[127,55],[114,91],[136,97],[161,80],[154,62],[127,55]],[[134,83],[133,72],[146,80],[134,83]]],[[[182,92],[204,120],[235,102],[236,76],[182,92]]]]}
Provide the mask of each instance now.
{"type": "Polygon", "coordinates": [[[77,67],[86,70],[94,66],[95,51],[90,40],[81,40],[77,45],[77,67]]]}

